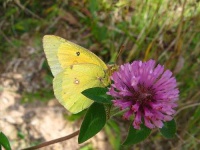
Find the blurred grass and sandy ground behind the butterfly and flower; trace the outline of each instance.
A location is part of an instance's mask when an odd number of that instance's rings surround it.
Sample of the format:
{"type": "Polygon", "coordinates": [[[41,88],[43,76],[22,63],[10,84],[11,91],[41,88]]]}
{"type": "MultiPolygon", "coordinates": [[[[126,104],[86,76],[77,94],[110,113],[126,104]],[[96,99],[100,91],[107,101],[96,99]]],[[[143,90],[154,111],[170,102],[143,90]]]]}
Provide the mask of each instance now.
{"type": "Polygon", "coordinates": [[[118,150],[200,147],[200,2],[198,0],[4,0],[0,2],[0,131],[14,150],[68,135],[83,113],[71,115],[54,98],[42,38],[53,34],[118,65],[155,59],[173,71],[180,88],[177,134],[158,130],[122,147],[128,121],[110,121],[97,136],[43,149],[118,150]]]}

